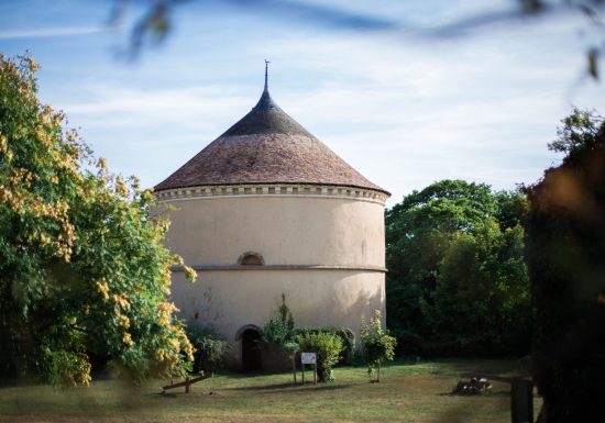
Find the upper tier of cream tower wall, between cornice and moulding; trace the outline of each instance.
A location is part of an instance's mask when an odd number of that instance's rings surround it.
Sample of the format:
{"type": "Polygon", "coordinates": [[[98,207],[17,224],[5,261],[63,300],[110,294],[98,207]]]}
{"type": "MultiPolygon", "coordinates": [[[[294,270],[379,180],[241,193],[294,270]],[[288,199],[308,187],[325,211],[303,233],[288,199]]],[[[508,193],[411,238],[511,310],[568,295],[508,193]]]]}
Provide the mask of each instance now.
{"type": "Polygon", "coordinates": [[[384,267],[381,203],[342,198],[210,197],[172,201],[167,245],[191,264],[232,265],[244,252],[266,265],[384,267]]]}

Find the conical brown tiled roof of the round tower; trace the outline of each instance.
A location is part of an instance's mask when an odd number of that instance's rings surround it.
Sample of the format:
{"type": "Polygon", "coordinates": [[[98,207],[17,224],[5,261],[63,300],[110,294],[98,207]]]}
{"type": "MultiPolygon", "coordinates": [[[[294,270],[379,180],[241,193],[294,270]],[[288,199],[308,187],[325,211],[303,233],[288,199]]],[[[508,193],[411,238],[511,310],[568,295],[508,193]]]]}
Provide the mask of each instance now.
{"type": "Polygon", "coordinates": [[[155,190],[246,183],[343,186],[388,194],[284,112],[271,98],[266,82],[250,113],[155,190]]]}

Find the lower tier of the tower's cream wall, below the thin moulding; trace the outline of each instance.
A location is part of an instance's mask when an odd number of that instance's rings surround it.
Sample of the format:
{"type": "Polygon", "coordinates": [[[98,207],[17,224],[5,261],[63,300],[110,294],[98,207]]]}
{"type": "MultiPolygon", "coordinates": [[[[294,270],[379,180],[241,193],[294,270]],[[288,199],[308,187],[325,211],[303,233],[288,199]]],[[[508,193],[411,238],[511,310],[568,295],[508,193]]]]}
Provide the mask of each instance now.
{"type": "MultiPolygon", "coordinates": [[[[173,276],[173,301],[187,321],[212,325],[231,344],[230,363],[241,368],[252,342],[286,297],[296,327],[343,326],[359,344],[362,316],[385,316],[385,277],[380,270],[241,269],[198,271],[198,281],[173,276]]],[[[384,320],[383,320],[384,322],[384,320]]],[[[359,345],[358,345],[359,346],[359,345]]]]}

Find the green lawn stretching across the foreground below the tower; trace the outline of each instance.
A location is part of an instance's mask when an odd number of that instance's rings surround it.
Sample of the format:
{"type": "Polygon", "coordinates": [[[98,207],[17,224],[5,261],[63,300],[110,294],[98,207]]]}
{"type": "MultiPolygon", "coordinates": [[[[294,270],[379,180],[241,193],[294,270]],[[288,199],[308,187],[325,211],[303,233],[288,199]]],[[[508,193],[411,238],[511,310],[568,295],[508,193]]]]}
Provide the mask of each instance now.
{"type": "Polygon", "coordinates": [[[72,390],[4,387],[0,422],[508,423],[508,385],[494,382],[484,396],[450,394],[465,371],[525,374],[514,361],[438,360],[392,365],[381,383],[370,383],[363,367],[340,367],[334,381],[317,386],[294,386],[288,374],[226,374],[195,385],[188,394],[183,389],[160,394],[161,380],[139,388],[116,380],[72,390]]]}

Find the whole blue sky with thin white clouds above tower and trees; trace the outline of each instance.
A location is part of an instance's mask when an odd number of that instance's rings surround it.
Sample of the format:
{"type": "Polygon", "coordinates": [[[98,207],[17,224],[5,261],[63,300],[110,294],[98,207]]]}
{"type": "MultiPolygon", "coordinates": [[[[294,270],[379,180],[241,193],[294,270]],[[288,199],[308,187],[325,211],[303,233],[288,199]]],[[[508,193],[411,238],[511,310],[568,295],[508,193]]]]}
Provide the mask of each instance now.
{"type": "Polygon", "coordinates": [[[584,18],[491,20],[512,0],[190,0],[134,62],[120,52],[140,10],[110,27],[112,4],[3,0],[0,51],[29,49],[42,100],[147,187],[256,103],[265,58],[276,102],[389,205],[443,178],[534,182],[559,159],[547,144],[572,104],[605,113],[603,85],[583,78],[584,18]]]}

